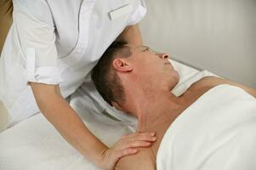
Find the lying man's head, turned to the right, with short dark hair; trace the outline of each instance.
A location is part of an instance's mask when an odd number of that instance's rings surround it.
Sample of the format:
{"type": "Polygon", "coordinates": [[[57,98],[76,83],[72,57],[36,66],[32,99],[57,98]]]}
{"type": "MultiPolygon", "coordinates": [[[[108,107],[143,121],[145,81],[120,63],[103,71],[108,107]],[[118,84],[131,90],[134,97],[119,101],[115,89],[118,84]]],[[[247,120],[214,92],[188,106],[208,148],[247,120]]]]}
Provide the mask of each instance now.
{"type": "Polygon", "coordinates": [[[123,110],[123,105],[130,102],[128,96],[153,89],[170,91],[179,82],[179,74],[168,54],[153,52],[146,46],[113,42],[94,67],[92,79],[105,101],[123,110]]]}

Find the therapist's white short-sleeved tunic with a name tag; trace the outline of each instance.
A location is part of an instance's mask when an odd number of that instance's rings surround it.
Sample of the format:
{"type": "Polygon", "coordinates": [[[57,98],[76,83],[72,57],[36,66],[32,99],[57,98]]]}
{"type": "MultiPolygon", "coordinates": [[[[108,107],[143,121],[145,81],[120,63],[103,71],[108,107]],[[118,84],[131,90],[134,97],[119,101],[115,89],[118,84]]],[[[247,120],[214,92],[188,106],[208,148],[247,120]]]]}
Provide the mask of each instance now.
{"type": "Polygon", "coordinates": [[[39,111],[27,82],[60,84],[68,97],[111,42],[146,12],[143,0],[13,3],[14,23],[0,58],[0,100],[9,111],[9,126],[39,111]]]}

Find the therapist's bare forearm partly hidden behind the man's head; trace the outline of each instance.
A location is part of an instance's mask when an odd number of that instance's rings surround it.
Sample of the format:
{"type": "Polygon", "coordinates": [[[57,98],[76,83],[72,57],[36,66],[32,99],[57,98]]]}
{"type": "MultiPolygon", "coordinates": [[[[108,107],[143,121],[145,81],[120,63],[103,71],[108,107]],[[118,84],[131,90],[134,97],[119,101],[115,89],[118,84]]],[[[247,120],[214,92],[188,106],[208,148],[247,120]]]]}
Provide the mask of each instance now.
{"type": "Polygon", "coordinates": [[[138,25],[127,26],[117,37],[117,40],[126,41],[135,45],[143,45],[143,40],[138,25]]]}

